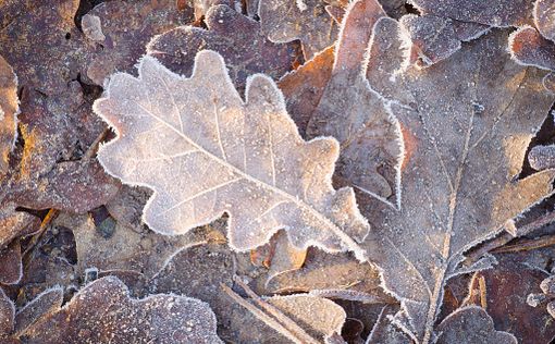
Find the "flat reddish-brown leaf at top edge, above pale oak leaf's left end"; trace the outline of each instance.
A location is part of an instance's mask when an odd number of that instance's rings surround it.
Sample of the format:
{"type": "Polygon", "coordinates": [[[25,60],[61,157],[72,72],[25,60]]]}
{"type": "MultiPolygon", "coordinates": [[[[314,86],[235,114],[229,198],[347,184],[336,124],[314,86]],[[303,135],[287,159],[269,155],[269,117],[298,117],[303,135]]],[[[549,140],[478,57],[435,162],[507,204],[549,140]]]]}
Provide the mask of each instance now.
{"type": "MultiPolygon", "coordinates": [[[[84,76],[102,86],[104,78],[113,72],[131,72],[152,36],[193,22],[193,12],[192,7],[180,8],[175,0],[100,3],[87,15],[99,19],[100,30],[106,38],[92,39],[90,52],[83,63],[84,76]]],[[[88,19],[84,16],[82,24],[88,19]]]]}

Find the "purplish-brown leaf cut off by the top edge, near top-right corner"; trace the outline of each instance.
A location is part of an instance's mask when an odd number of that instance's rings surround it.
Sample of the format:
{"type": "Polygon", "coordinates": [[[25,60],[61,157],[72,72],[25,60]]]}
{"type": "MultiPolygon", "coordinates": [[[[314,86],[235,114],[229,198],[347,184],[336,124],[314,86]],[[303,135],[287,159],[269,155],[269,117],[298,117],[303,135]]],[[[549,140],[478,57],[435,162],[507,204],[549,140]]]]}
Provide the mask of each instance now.
{"type": "Polygon", "coordinates": [[[528,24],[532,19],[531,0],[410,0],[421,13],[436,14],[461,22],[506,27],[528,24]]]}

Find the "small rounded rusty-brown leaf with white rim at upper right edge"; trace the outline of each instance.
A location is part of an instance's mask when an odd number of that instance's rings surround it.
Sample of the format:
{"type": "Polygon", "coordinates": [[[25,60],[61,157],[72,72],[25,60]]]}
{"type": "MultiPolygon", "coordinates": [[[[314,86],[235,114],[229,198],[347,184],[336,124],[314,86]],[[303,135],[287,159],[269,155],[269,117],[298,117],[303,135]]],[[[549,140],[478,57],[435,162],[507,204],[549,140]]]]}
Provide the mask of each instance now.
{"type": "Polygon", "coordinates": [[[555,44],[543,38],[535,28],[520,27],[508,41],[510,54],[518,63],[555,71],[555,44]]]}

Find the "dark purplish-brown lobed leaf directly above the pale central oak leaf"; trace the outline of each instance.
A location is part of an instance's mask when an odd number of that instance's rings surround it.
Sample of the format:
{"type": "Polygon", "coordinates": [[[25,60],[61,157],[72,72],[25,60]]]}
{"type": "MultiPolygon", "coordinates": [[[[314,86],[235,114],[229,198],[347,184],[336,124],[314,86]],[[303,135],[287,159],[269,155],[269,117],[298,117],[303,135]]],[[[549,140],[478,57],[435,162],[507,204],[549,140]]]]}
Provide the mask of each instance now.
{"type": "Polygon", "coordinates": [[[218,51],[230,69],[235,86],[243,90],[248,75],[266,73],[280,78],[295,62],[295,45],[273,44],[262,35],[260,23],[220,4],[210,8],[205,17],[208,30],[181,26],[155,37],[147,46],[172,72],[189,76],[198,51],[218,51]],[[233,39],[230,33],[233,32],[233,39]]]}

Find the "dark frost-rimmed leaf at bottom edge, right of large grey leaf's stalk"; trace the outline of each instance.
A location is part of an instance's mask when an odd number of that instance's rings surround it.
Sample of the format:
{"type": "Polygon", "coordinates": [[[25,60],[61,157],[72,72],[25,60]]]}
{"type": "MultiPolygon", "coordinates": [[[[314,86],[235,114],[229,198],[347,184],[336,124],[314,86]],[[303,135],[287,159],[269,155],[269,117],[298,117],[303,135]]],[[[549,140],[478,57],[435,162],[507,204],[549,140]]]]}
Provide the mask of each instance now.
{"type": "Polygon", "coordinates": [[[477,306],[468,306],[456,310],[445,318],[439,325],[437,342],[472,343],[472,344],[516,344],[517,339],[503,331],[496,331],[493,320],[488,312],[477,306]]]}

